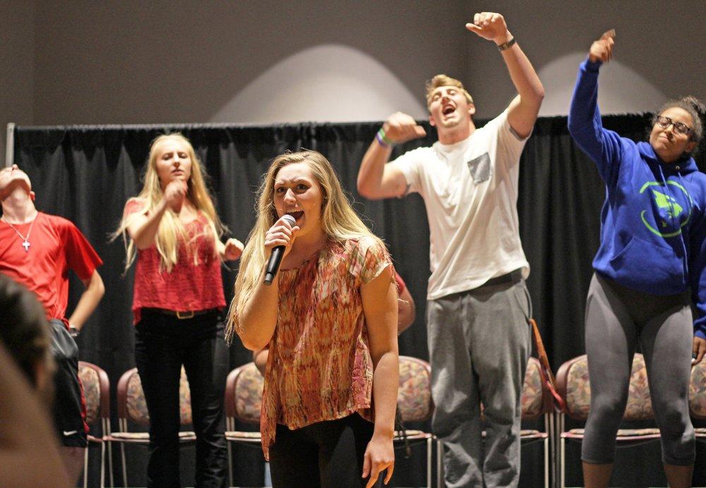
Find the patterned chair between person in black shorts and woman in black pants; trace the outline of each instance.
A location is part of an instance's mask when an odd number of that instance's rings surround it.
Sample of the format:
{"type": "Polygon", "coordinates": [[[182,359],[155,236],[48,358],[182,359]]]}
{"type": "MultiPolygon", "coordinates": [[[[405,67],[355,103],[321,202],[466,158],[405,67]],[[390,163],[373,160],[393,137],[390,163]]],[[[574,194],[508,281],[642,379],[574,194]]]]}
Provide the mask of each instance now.
{"type": "MultiPolygon", "coordinates": [[[[100,421],[100,435],[88,435],[88,449],[83,458],[83,487],[88,487],[88,451],[90,446],[100,446],[100,486],[105,486],[105,444],[106,436],[110,435],[110,382],[108,375],[95,364],[85,361],[78,362],[78,377],[83,384],[83,394],[86,399],[86,423],[94,429],[100,421]]],[[[113,460],[108,450],[108,472],[110,486],[113,486],[113,460]]]]}

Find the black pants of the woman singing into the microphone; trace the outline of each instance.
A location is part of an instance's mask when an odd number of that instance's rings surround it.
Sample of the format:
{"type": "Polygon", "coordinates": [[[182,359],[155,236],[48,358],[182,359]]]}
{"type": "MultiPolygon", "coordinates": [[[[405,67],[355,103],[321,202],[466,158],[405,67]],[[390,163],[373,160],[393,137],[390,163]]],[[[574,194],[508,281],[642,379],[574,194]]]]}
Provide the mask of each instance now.
{"type": "Polygon", "coordinates": [[[296,430],[277,424],[270,447],[273,487],[364,487],[363,460],[373,427],[357,413],[296,430]]]}

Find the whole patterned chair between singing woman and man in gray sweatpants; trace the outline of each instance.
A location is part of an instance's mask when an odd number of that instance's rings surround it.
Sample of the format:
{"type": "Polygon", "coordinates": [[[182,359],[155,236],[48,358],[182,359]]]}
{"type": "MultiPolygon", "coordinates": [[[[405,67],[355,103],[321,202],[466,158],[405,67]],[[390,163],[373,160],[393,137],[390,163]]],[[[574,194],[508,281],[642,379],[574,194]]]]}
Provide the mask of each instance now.
{"type": "MultiPolygon", "coordinates": [[[[400,356],[400,388],[397,390],[397,418],[400,422],[426,422],[434,407],[431,400],[431,367],[416,357],[400,356]]],[[[431,456],[434,436],[420,430],[397,430],[395,448],[426,444],[426,486],[431,487],[431,456]]],[[[437,456],[437,464],[439,463],[437,456]]],[[[439,485],[441,486],[441,485],[439,485]]]]}

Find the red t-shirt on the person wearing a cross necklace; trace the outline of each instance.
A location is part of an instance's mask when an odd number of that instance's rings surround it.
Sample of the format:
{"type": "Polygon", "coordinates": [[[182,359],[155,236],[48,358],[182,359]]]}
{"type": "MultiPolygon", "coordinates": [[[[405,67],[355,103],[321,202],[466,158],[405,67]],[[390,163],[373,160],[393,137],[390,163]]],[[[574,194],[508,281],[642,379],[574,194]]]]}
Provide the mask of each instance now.
{"type": "Polygon", "coordinates": [[[0,273],[35,292],[47,319],[60,319],[68,326],[68,270],[88,280],[103,261],[76,225],[65,218],[39,212],[34,225],[13,227],[25,237],[30,232],[30,247],[25,251],[17,232],[0,220],[0,273]]]}

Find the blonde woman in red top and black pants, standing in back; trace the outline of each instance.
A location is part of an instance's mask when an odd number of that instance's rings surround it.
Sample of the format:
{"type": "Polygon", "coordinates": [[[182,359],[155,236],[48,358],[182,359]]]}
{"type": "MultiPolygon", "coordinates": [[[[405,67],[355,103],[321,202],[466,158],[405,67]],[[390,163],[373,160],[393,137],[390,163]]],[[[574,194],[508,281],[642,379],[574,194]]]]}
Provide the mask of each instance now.
{"type": "Polygon", "coordinates": [[[240,257],[223,226],[191,143],[179,133],[152,142],[145,186],[128,200],[118,234],[137,256],[135,358],[150,413],[148,486],[179,486],[179,376],[184,365],[196,432],[196,486],[225,483],[222,260],[240,257]],[[127,239],[126,239],[127,241],[127,239]]]}

